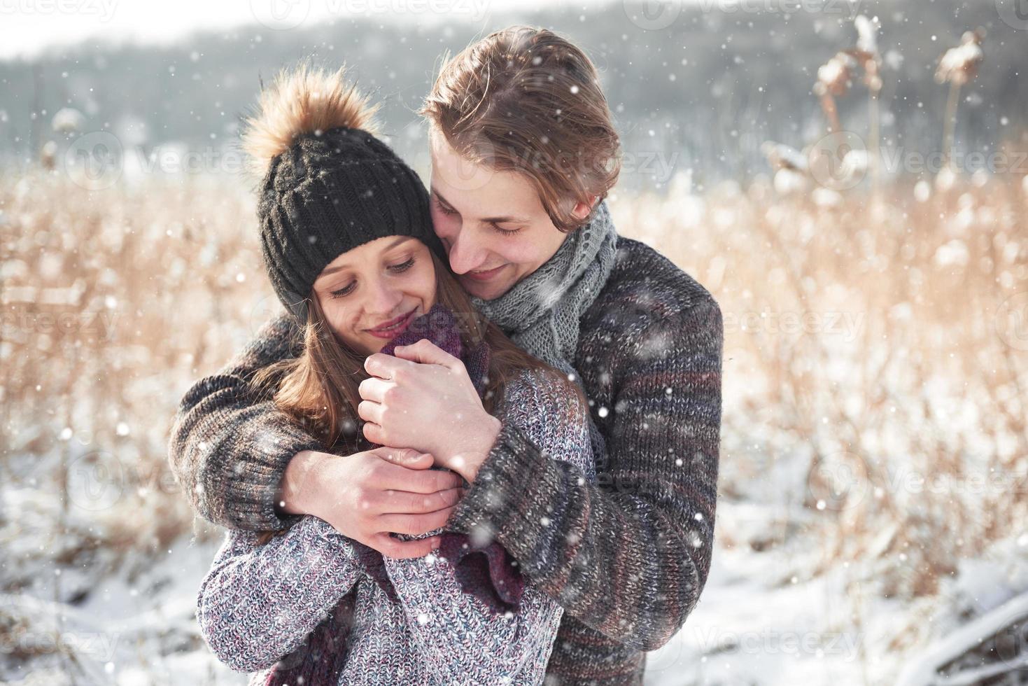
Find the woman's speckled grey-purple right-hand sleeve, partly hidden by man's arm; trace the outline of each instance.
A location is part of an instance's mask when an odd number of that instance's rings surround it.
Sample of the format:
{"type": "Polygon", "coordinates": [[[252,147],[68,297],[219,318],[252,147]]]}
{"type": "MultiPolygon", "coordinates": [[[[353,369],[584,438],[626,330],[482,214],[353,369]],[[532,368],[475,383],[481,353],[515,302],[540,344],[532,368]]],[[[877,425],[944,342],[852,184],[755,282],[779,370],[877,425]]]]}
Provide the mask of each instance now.
{"type": "MultiPolygon", "coordinates": [[[[592,476],[588,418],[577,396],[539,371],[522,372],[504,395],[506,422],[549,459],[592,476]]],[[[387,557],[386,565],[414,641],[439,683],[542,682],[562,610],[535,583],[525,584],[517,612],[494,614],[462,591],[445,558],[387,557]]]]}

